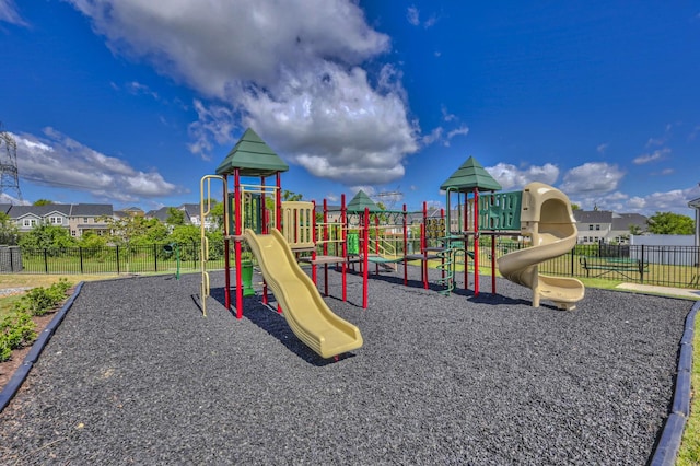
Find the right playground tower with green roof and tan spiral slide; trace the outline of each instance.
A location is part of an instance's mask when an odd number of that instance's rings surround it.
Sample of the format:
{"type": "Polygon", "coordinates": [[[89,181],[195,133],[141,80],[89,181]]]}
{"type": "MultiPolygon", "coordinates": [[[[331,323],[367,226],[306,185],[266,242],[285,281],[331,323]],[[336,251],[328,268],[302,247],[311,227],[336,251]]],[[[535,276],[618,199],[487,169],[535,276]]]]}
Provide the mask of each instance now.
{"type": "Polygon", "coordinates": [[[469,158],[443,185],[446,193],[450,231],[445,235],[443,255],[447,260],[443,275],[447,290],[454,289],[455,257],[459,252],[474,260],[474,293],[479,294],[479,245],[481,236],[491,238],[491,292],[495,293],[495,267],[500,273],[533,290],[533,306],[540,300],[558,307],[575,308],[585,288],[580,280],[540,275],[538,264],[571,251],[576,244],[576,225],[569,198],[542,183],[530,183],[523,191],[495,193],[501,186],[474,159],[469,158]],[[481,191],[487,194],[481,195],[481,191]],[[456,221],[451,217],[451,198],[457,196],[456,221]],[[472,212],[471,215],[469,213],[472,212]],[[497,259],[498,236],[523,236],[532,245],[497,259]],[[471,242],[472,252],[467,245],[471,242]],[[452,268],[450,268],[452,267],[452,268]]]}

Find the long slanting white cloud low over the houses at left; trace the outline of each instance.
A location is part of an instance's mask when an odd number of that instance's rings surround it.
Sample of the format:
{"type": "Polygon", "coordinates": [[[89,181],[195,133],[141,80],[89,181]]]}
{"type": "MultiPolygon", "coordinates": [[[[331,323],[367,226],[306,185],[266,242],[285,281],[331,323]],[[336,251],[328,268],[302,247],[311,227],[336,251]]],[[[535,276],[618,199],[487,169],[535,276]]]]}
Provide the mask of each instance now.
{"type": "Polygon", "coordinates": [[[102,199],[139,201],[178,188],[156,172],[141,172],[46,128],[45,136],[12,135],[18,143],[20,177],[56,188],[82,190],[102,199]],[[66,167],[70,167],[67,170],[66,167]]]}

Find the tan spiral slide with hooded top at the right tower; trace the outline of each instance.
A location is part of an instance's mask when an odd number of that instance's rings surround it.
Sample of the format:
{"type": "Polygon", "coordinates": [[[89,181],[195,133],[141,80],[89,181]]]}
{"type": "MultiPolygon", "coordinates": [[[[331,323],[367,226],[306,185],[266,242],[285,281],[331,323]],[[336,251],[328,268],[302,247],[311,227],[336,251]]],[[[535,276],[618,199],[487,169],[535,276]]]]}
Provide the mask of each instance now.
{"type": "Polygon", "coordinates": [[[498,259],[503,277],[533,290],[533,306],[540,299],[559,308],[573,310],[585,294],[580,280],[540,275],[537,266],[561,256],[576,245],[576,221],[567,195],[544,183],[530,183],[523,190],[521,234],[532,238],[532,247],[515,251],[498,259]]]}

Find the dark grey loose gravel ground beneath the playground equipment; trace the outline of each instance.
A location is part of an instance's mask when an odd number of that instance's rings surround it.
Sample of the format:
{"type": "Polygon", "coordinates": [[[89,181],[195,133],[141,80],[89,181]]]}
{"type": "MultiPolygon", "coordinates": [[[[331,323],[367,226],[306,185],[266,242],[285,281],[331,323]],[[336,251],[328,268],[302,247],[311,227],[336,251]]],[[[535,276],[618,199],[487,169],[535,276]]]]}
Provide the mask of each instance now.
{"type": "Polygon", "coordinates": [[[411,284],[372,279],[362,310],[349,276],[349,302],[327,302],[364,347],[332,362],[257,298],[236,321],[220,272],[207,318],[197,275],[84,283],[0,413],[0,463],[649,461],[692,302],[590,289],[563,312],[504,280],[478,298],[411,284]]]}

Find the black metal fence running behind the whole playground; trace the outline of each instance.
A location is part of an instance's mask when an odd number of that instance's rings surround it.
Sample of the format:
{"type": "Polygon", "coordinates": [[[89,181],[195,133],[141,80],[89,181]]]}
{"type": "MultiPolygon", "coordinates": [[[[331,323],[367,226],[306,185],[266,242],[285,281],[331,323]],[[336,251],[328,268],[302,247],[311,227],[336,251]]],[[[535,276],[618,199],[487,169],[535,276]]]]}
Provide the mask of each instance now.
{"type": "MultiPolygon", "coordinates": [[[[0,272],[12,273],[152,273],[199,270],[199,243],[112,247],[28,249],[0,246],[0,272]],[[176,246],[176,247],[174,247],[176,246]]],[[[411,244],[409,253],[418,252],[411,244]]],[[[479,264],[528,247],[522,242],[480,243],[479,264]]],[[[402,245],[401,248],[402,249],[402,245]]],[[[402,251],[397,254],[404,254],[402,251]]],[[[472,267],[472,263],[467,263],[472,267]]],[[[209,269],[223,269],[223,244],[210,245],[209,269]]],[[[587,277],[676,288],[700,288],[700,247],[579,244],[570,253],[540,264],[542,273],[587,277]]]]}

